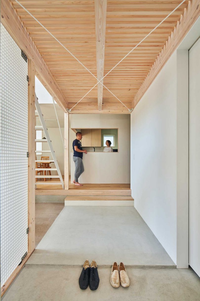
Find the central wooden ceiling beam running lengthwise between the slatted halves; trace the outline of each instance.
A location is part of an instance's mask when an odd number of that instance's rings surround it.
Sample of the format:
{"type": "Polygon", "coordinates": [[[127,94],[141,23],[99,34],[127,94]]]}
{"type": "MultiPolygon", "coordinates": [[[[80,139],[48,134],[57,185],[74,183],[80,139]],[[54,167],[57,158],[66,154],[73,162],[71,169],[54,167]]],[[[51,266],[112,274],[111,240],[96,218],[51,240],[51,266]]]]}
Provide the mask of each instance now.
{"type": "MultiPolygon", "coordinates": [[[[107,0],[94,0],[97,79],[103,78],[105,38],[106,38],[106,8],[107,0]]],[[[101,81],[103,83],[103,80],[101,81]]],[[[98,110],[102,110],[103,85],[97,85],[98,110]]]]}

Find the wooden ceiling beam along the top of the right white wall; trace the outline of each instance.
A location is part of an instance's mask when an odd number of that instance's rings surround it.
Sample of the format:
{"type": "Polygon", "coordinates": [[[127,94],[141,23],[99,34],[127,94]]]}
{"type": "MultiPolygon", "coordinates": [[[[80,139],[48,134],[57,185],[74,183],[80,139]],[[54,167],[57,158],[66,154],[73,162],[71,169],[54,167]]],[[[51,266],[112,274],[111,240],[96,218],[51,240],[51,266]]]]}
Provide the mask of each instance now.
{"type": "Polygon", "coordinates": [[[164,45],[156,61],[151,67],[151,70],[135,95],[132,102],[133,108],[136,107],[142,96],[148,90],[156,76],[160,73],[161,69],[169,60],[173,52],[177,49],[178,45],[184,39],[199,16],[200,0],[189,1],[187,8],[184,9],[184,13],[181,15],[180,20],[177,22],[177,25],[169,36],[169,39],[166,41],[166,44],[164,45]]]}

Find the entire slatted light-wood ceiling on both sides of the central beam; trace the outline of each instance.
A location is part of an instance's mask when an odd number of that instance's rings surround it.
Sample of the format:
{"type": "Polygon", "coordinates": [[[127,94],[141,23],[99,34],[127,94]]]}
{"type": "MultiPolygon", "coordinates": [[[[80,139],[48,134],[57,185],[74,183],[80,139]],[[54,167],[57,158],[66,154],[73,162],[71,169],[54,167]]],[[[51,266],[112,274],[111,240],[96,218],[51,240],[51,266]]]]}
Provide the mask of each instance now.
{"type": "MultiPolygon", "coordinates": [[[[94,0],[21,0],[20,3],[97,76],[94,0]]],[[[180,3],[180,0],[107,0],[104,75],[180,3]]],[[[187,5],[185,1],[105,77],[104,85],[127,107],[131,108],[135,94],[187,5]]],[[[97,80],[14,1],[13,6],[60,86],[68,107],[73,107],[97,80]]],[[[97,107],[96,86],[76,109],[92,112],[97,107]]],[[[103,88],[105,108],[124,107],[103,88]]]]}

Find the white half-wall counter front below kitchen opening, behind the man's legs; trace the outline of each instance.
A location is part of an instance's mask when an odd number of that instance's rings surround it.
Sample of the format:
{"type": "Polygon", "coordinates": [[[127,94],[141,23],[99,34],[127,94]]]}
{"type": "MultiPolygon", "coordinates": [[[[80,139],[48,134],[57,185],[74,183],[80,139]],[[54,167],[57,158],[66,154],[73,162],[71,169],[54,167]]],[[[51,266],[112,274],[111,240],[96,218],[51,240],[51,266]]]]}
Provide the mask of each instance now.
{"type": "MultiPolygon", "coordinates": [[[[83,154],[84,172],[79,178],[82,184],[129,184],[130,174],[127,173],[127,154],[119,152],[103,153],[88,152],[83,154]]],[[[75,164],[71,153],[71,183],[74,179],[75,164]]]]}

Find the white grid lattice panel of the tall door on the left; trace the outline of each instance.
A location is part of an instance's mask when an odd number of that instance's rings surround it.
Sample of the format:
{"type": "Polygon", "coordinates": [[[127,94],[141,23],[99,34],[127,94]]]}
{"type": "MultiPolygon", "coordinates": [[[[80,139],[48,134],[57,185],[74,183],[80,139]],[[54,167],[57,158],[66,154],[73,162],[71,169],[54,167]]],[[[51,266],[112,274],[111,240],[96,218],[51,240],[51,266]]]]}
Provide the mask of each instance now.
{"type": "Polygon", "coordinates": [[[1,285],[28,251],[28,62],[1,24],[1,285]]]}

